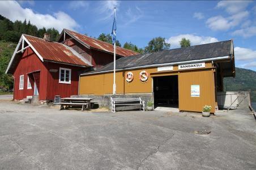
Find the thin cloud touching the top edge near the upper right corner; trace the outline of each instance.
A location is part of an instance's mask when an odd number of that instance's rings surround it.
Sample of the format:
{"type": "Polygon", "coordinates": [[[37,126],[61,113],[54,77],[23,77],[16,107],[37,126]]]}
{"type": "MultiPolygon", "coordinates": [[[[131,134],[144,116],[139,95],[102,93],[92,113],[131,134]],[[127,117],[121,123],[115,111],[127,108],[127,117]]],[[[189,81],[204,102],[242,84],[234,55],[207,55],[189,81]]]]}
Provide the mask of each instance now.
{"type": "Polygon", "coordinates": [[[217,3],[217,8],[225,8],[229,14],[236,14],[244,11],[245,8],[253,1],[220,1],[217,3]]]}

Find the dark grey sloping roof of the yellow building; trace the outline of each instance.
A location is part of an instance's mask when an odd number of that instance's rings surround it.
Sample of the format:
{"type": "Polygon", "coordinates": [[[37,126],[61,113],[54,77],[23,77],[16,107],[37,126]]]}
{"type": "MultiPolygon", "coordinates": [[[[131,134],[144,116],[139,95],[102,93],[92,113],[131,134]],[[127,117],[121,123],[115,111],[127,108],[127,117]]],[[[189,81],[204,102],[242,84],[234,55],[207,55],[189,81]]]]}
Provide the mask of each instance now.
{"type": "MultiPolygon", "coordinates": [[[[134,67],[151,66],[155,64],[187,62],[192,60],[210,59],[221,56],[231,56],[233,53],[233,42],[220,41],[207,43],[203,45],[195,45],[180,49],[164,50],[149,54],[140,54],[130,57],[123,57],[116,60],[116,69],[126,69],[134,67]]],[[[103,71],[112,71],[113,62],[97,71],[87,73],[97,73],[103,71]]],[[[84,73],[86,74],[86,73],[84,73]]]]}

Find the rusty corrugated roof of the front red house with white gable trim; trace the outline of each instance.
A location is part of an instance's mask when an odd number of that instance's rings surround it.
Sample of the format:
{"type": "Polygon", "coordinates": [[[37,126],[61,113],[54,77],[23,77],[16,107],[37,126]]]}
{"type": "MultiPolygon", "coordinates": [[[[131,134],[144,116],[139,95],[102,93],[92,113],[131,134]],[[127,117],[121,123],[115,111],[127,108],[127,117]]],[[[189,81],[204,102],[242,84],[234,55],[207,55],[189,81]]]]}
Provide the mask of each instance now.
{"type": "Polygon", "coordinates": [[[83,59],[82,56],[72,50],[69,46],[58,42],[45,41],[42,38],[28,36],[25,34],[23,35],[44,60],[81,66],[91,66],[85,59],[83,59]]]}

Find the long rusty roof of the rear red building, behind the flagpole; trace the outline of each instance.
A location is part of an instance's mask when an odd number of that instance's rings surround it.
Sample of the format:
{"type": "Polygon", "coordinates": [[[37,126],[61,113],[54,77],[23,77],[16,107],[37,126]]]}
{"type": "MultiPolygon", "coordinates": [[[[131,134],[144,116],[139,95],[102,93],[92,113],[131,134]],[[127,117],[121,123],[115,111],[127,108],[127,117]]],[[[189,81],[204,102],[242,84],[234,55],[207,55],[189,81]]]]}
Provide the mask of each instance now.
{"type": "MultiPolygon", "coordinates": [[[[114,47],[110,43],[106,43],[100,40],[97,40],[95,38],[91,38],[88,36],[85,36],[83,34],[79,34],[77,32],[74,32],[69,29],[63,29],[67,34],[69,34],[71,37],[78,39],[85,43],[87,46],[93,48],[93,49],[98,49],[98,50],[103,50],[108,53],[114,53],[114,47]]],[[[116,47],[116,54],[121,55],[121,56],[130,56],[130,55],[137,55],[139,53],[136,53],[135,51],[123,49],[121,47],[116,47]]]]}

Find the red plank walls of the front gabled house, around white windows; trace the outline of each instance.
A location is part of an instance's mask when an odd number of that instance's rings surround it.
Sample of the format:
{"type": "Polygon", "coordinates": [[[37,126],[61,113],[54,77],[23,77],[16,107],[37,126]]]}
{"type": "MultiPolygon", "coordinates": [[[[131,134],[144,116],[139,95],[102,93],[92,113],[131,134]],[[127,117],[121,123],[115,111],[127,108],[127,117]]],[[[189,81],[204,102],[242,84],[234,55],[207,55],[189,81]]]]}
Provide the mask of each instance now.
{"type": "Polygon", "coordinates": [[[28,75],[36,77],[35,79],[40,79],[39,81],[36,81],[36,83],[39,84],[37,86],[39,86],[40,100],[54,99],[55,95],[61,95],[61,97],[70,97],[70,95],[77,95],[79,73],[83,70],[83,67],[75,67],[66,64],[51,62],[42,62],[37,57],[37,55],[33,53],[30,48],[28,48],[20,56],[20,61],[14,72],[14,99],[23,99],[26,98],[28,95],[33,95],[34,80],[31,81],[32,89],[27,89],[28,75]],[[71,69],[71,84],[59,83],[59,67],[71,69]],[[57,69],[57,72],[49,72],[50,69],[57,69]],[[31,72],[33,73],[31,74],[31,72]],[[19,90],[20,75],[24,75],[23,90],[19,90]]]}

